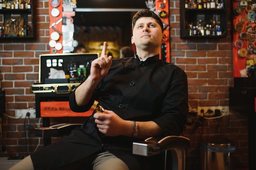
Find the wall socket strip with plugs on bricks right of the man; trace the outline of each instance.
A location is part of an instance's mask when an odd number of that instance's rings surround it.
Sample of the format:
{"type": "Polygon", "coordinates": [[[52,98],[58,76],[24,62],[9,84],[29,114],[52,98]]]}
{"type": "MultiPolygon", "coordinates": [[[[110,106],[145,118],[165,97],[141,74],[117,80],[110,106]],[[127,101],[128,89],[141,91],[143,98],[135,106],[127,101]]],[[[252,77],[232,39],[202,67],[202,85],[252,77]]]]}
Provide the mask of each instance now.
{"type": "Polygon", "coordinates": [[[228,106],[198,106],[198,116],[217,117],[229,115],[228,106]]]}

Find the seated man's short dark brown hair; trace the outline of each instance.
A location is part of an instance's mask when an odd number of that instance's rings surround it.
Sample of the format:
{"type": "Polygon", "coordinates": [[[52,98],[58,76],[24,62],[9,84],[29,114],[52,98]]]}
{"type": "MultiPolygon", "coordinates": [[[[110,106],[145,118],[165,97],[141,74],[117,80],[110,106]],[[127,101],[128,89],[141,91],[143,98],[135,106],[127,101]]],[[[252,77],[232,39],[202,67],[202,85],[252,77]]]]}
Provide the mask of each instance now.
{"type": "Polygon", "coordinates": [[[137,13],[135,13],[135,15],[132,17],[132,30],[134,29],[134,26],[135,26],[137,20],[139,20],[139,18],[141,18],[141,17],[154,18],[155,21],[161,26],[162,32],[164,32],[164,25],[163,25],[161,18],[156,13],[154,13],[153,11],[150,11],[148,9],[142,9],[142,10],[138,11],[137,13]]]}

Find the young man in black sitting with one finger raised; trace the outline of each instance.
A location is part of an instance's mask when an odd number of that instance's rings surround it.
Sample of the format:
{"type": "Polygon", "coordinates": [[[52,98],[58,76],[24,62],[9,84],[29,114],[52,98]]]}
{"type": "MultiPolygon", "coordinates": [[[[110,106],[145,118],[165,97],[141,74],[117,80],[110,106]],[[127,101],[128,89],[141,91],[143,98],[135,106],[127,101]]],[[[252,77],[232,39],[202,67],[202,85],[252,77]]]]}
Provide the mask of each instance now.
{"type": "Polygon", "coordinates": [[[132,33],[135,57],[112,60],[104,42],[90,76],[70,94],[73,111],[87,111],[97,100],[105,113],[94,112],[69,136],[32,153],[26,160],[34,169],[149,170],[158,155],[133,155],[132,142],[182,133],[187,77],[181,68],[159,59],[166,40],[162,21],[141,10],[133,17],[132,33]]]}

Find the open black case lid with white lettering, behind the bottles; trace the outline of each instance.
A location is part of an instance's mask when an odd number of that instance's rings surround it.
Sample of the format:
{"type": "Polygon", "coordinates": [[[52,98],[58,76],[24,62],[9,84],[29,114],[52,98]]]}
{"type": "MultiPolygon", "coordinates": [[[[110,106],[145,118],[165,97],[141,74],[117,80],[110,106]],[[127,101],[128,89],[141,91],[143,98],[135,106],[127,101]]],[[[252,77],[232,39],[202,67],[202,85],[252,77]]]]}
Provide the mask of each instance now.
{"type": "Polygon", "coordinates": [[[39,58],[39,83],[69,83],[68,78],[58,78],[49,80],[50,68],[63,70],[65,74],[69,74],[67,67],[72,62],[79,65],[84,65],[86,75],[90,73],[90,65],[92,60],[97,59],[99,53],[64,53],[64,54],[40,54],[39,58]],[[46,81],[45,81],[46,80],[46,81]]]}

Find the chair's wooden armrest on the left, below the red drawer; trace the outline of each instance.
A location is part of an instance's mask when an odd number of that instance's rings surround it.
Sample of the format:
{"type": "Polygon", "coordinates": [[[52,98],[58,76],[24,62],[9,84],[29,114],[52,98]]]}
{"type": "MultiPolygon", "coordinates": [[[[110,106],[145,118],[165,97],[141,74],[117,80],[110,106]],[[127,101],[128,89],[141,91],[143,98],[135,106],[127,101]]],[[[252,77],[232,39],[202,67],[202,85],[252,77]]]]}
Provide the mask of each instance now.
{"type": "Polygon", "coordinates": [[[34,133],[36,137],[65,136],[65,135],[69,135],[74,128],[81,127],[81,125],[82,124],[71,124],[71,123],[56,124],[49,127],[35,128],[34,133]]]}

